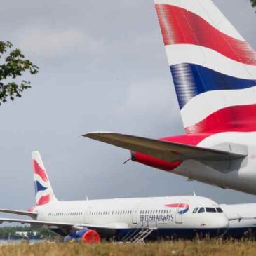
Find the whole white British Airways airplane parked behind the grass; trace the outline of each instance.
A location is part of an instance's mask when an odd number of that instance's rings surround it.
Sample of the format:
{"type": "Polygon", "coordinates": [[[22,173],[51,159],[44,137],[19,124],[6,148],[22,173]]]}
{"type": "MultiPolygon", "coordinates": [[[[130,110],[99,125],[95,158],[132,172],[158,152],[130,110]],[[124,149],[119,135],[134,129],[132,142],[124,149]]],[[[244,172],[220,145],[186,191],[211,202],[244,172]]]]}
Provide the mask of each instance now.
{"type": "Polygon", "coordinates": [[[32,153],[36,206],[25,210],[1,209],[3,213],[25,215],[32,220],[0,218],[33,227],[47,226],[65,241],[81,239],[98,242],[101,238],[137,242],[144,238],[192,238],[227,231],[229,221],[214,201],[199,196],[125,198],[109,200],[58,201],[50,186],[38,151],[32,153]],[[200,208],[198,213],[194,209],[200,208]]]}

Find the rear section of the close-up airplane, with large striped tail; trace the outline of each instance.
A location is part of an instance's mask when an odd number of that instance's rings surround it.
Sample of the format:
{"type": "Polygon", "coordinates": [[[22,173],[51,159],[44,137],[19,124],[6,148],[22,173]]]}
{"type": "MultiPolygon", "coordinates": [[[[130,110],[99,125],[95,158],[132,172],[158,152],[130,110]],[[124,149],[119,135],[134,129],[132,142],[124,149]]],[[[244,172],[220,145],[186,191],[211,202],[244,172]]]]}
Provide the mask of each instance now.
{"type": "Polygon", "coordinates": [[[211,0],[155,4],[185,133],[83,136],[129,149],[138,163],[256,194],[255,50],[211,0]]]}

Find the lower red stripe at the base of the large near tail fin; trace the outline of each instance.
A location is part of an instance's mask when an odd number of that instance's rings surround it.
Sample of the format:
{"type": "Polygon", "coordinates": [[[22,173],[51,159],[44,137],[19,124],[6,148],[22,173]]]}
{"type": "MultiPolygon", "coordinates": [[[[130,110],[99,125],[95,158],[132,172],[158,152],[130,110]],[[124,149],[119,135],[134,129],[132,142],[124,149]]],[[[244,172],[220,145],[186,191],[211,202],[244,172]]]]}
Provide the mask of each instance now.
{"type": "Polygon", "coordinates": [[[185,128],[186,133],[221,133],[227,131],[256,131],[256,104],[220,109],[194,126],[185,128]]]}

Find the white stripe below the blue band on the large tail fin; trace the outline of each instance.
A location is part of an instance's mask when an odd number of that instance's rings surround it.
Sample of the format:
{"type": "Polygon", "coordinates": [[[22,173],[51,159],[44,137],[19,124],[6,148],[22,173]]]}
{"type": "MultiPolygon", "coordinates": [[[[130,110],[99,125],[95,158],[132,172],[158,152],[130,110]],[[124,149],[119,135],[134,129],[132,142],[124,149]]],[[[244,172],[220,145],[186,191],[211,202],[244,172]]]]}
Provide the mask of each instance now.
{"type": "Polygon", "coordinates": [[[256,103],[256,88],[214,90],[192,98],[181,110],[184,127],[193,126],[224,107],[256,103]]]}

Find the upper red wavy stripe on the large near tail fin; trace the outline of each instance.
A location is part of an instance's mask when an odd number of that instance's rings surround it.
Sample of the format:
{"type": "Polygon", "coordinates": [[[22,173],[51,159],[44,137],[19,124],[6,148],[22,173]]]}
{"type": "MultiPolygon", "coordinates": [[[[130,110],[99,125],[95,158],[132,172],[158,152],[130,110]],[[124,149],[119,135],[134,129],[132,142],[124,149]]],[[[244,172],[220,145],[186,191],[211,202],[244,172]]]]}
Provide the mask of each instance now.
{"type": "Polygon", "coordinates": [[[220,32],[200,16],[183,8],[156,4],[165,45],[186,43],[204,46],[248,65],[256,65],[250,45],[220,32]]]}

